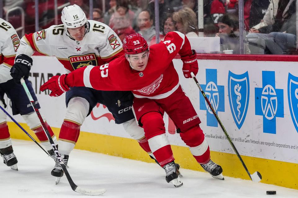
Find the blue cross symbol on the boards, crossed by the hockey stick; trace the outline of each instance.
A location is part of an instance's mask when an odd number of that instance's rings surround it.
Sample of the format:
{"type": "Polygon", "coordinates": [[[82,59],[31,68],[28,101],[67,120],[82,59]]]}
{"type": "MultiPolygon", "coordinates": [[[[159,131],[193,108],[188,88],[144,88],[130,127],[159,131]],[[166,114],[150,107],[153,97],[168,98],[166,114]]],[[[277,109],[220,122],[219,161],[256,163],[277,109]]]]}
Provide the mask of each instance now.
{"type": "MultiPolygon", "coordinates": [[[[224,86],[217,85],[217,69],[206,69],[206,84],[201,84],[201,87],[216,114],[218,111],[224,112],[224,86]]],[[[218,127],[217,119],[202,94],[200,94],[200,110],[207,112],[207,126],[218,127]]]]}

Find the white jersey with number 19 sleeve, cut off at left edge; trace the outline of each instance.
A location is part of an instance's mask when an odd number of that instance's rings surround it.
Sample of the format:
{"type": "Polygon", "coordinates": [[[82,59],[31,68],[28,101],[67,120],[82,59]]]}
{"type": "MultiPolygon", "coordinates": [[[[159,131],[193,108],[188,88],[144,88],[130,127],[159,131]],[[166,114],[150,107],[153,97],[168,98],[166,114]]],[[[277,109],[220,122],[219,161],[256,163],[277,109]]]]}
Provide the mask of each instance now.
{"type": "Polygon", "coordinates": [[[12,79],[10,68],[14,63],[20,39],[12,25],[1,18],[0,35],[0,83],[4,83],[12,79]]]}

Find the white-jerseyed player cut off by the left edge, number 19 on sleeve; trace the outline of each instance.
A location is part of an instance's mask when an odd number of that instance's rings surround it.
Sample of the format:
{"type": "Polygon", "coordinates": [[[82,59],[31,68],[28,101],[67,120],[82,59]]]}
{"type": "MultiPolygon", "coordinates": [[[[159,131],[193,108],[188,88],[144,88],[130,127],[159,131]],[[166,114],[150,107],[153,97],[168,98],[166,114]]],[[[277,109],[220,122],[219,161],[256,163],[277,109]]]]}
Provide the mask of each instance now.
{"type": "MultiPolygon", "coordinates": [[[[10,76],[10,69],[14,64],[16,52],[20,45],[20,39],[16,33],[16,30],[10,23],[0,18],[0,105],[6,108],[4,101],[4,94],[11,100],[11,108],[13,115],[21,114],[25,122],[28,124],[37,136],[38,140],[45,147],[46,150],[52,155],[52,146],[47,140],[47,136],[43,132],[43,129],[39,123],[37,115],[34,113],[33,108],[30,106],[30,101],[26,96],[24,88],[20,84],[16,84],[10,76]]],[[[28,56],[20,55],[17,58],[16,65],[22,65],[30,67],[32,65],[32,59],[28,56]],[[18,60],[24,60],[19,62],[18,60]]],[[[37,101],[32,85],[28,81],[28,76],[25,78],[25,82],[30,90],[34,101],[37,101]]],[[[38,104],[39,107],[39,104],[38,104]]],[[[40,108],[40,107],[39,107],[40,108]]],[[[47,129],[50,132],[54,142],[57,144],[56,136],[51,128],[47,125],[47,129]]],[[[7,166],[11,166],[12,169],[17,170],[17,159],[12,149],[12,142],[7,126],[7,116],[1,110],[0,111],[0,153],[4,163],[7,166]]],[[[53,156],[52,156],[53,157],[53,156]]]]}

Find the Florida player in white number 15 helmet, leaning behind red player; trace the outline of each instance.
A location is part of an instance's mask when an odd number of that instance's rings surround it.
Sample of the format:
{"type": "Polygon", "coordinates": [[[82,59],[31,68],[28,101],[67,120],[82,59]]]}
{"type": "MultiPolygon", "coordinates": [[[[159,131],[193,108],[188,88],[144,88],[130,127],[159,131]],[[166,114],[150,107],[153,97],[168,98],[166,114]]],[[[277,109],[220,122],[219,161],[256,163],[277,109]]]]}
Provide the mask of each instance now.
{"type": "MultiPolygon", "coordinates": [[[[67,73],[88,65],[103,65],[124,54],[122,42],[117,34],[106,24],[87,20],[79,6],[65,7],[62,10],[61,20],[63,25],[51,26],[25,35],[20,41],[17,54],[31,56],[34,51],[38,51],[47,56],[56,56],[67,73]]],[[[25,72],[17,68],[16,71],[11,70],[11,75],[17,82],[20,76],[28,76],[30,68],[26,68],[28,71],[25,72]]],[[[64,92],[62,87],[61,91],[64,92]]],[[[115,123],[123,124],[126,132],[138,140],[142,149],[154,159],[145,133],[137,126],[130,108],[132,97],[131,92],[98,91],[86,87],[71,88],[66,93],[67,110],[58,141],[58,150],[63,156],[63,161],[67,164],[69,154],[79,138],[80,126],[97,103],[106,105],[113,114],[115,123]]],[[[56,161],[51,174],[56,177],[63,176],[59,161],[56,161]]]]}

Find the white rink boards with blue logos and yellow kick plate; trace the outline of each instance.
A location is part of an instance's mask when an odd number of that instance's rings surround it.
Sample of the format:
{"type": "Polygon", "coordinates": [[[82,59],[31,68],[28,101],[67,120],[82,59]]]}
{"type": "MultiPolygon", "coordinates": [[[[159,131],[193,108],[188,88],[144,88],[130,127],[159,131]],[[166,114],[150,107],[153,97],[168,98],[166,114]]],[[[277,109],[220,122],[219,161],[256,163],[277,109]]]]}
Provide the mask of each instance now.
{"type": "MultiPolygon", "coordinates": [[[[40,93],[39,87],[52,75],[65,71],[55,57],[34,56],[33,59],[29,80],[41,112],[58,135],[66,109],[65,94],[49,97],[48,92],[40,93]]],[[[264,183],[298,189],[294,174],[298,162],[298,59],[208,54],[198,55],[198,62],[196,77],[250,172],[259,171],[264,183]]],[[[175,59],[174,65],[202,121],[200,126],[213,161],[223,166],[224,175],[249,179],[200,90],[192,79],[183,77],[181,60],[175,59]]],[[[8,110],[11,112],[10,107],[8,110]]],[[[15,119],[24,122],[20,116],[15,119]]],[[[167,115],[164,120],[176,162],[183,168],[202,171],[179,135],[174,133],[173,122],[167,115]]],[[[9,126],[11,137],[29,140],[13,123],[9,126]]],[[[81,131],[84,132],[80,134],[77,149],[152,162],[122,125],[115,124],[103,105],[93,109],[81,131]]]]}

